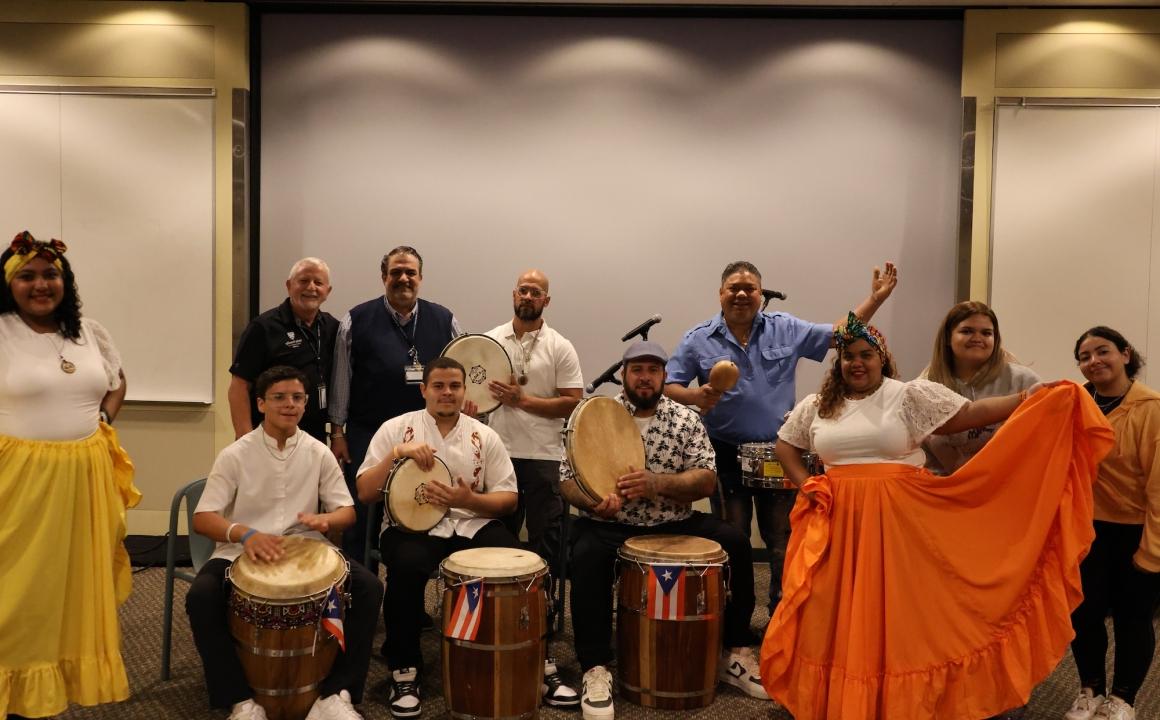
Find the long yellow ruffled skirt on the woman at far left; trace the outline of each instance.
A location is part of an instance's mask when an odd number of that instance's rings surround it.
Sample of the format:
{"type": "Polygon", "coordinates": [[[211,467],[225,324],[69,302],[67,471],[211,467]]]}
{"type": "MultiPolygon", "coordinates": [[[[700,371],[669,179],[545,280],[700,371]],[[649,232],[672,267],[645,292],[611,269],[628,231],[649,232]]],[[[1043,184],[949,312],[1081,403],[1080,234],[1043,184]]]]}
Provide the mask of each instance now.
{"type": "Polygon", "coordinates": [[[80,441],[0,435],[0,715],[129,697],[117,606],[125,510],[140,501],[109,426],[80,441]]]}

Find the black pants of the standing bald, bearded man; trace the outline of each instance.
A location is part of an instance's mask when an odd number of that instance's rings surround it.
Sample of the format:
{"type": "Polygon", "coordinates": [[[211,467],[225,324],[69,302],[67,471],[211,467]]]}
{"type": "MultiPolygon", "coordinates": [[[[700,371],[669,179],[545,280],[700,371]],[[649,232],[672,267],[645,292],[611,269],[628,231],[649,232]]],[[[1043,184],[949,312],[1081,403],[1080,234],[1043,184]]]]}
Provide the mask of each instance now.
{"type": "Polygon", "coordinates": [[[552,577],[559,577],[561,552],[560,532],[564,525],[564,499],[560,496],[560,464],[558,460],[529,460],[512,458],[515,479],[520,486],[520,504],[503,518],[503,525],[515,537],[528,521],[528,546],[548,562],[552,577]]]}

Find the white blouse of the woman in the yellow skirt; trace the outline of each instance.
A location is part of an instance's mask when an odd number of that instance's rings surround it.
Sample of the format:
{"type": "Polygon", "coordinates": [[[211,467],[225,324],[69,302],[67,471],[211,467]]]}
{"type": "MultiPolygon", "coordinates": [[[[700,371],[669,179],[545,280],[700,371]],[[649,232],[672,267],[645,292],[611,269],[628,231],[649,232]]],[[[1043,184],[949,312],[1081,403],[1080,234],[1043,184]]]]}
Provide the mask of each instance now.
{"type": "Polygon", "coordinates": [[[96,431],[101,400],[119,387],[121,358],[108,332],[81,319],[77,342],[37,333],[16,313],[0,314],[0,435],[74,441],[96,431]],[[75,366],[60,369],[61,356],[75,366]]]}

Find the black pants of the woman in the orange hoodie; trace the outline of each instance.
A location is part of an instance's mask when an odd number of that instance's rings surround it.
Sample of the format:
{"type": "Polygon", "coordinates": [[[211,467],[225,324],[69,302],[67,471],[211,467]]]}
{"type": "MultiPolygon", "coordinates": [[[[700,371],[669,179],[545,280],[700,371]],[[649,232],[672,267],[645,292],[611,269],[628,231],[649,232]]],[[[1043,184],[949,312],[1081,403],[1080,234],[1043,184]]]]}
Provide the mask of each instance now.
{"type": "Polygon", "coordinates": [[[1108,655],[1108,630],[1104,618],[1111,612],[1116,638],[1111,693],[1129,705],[1152,664],[1155,631],[1152,613],[1160,597],[1160,575],[1144,573],[1132,566],[1132,555],[1140,545],[1144,525],[1124,525],[1095,521],[1092,552],[1080,563],[1083,602],[1072,613],[1072,654],[1080,672],[1080,685],[1095,694],[1107,694],[1104,661],[1108,655]]]}

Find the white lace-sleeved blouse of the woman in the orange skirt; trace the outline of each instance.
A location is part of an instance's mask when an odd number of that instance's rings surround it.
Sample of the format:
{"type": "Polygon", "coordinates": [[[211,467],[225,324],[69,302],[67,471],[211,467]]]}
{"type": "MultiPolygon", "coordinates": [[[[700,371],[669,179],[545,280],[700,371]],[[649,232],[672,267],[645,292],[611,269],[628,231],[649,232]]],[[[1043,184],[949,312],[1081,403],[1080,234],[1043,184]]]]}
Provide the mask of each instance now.
{"type": "Polygon", "coordinates": [[[777,437],[818,453],[829,465],[926,463],[922,441],[967,399],[929,380],[883,379],[868,398],[847,400],[836,417],[818,417],[818,395],[797,403],[777,437]]]}

